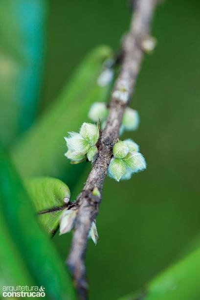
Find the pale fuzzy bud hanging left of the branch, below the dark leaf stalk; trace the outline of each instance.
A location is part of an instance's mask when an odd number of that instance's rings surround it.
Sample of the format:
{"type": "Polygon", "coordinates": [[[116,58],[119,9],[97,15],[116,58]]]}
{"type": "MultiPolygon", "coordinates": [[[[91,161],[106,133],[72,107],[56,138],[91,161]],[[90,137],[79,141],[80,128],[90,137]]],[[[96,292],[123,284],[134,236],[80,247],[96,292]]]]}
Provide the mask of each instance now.
{"type": "Polygon", "coordinates": [[[63,211],[60,217],[60,235],[73,229],[77,212],[77,209],[67,209],[63,211]]]}

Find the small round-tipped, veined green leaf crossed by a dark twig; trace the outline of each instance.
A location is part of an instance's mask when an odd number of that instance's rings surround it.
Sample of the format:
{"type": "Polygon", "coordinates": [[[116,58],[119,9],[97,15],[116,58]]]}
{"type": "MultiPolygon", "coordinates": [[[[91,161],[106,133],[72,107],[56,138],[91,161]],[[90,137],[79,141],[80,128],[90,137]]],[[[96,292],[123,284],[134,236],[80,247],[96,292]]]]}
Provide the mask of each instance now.
{"type": "MultiPolygon", "coordinates": [[[[26,188],[37,211],[62,207],[63,199],[70,198],[70,191],[61,180],[50,177],[33,178],[26,181],[26,188]]],[[[63,210],[44,213],[38,216],[44,229],[54,234],[59,226],[59,218],[63,210]]]]}

